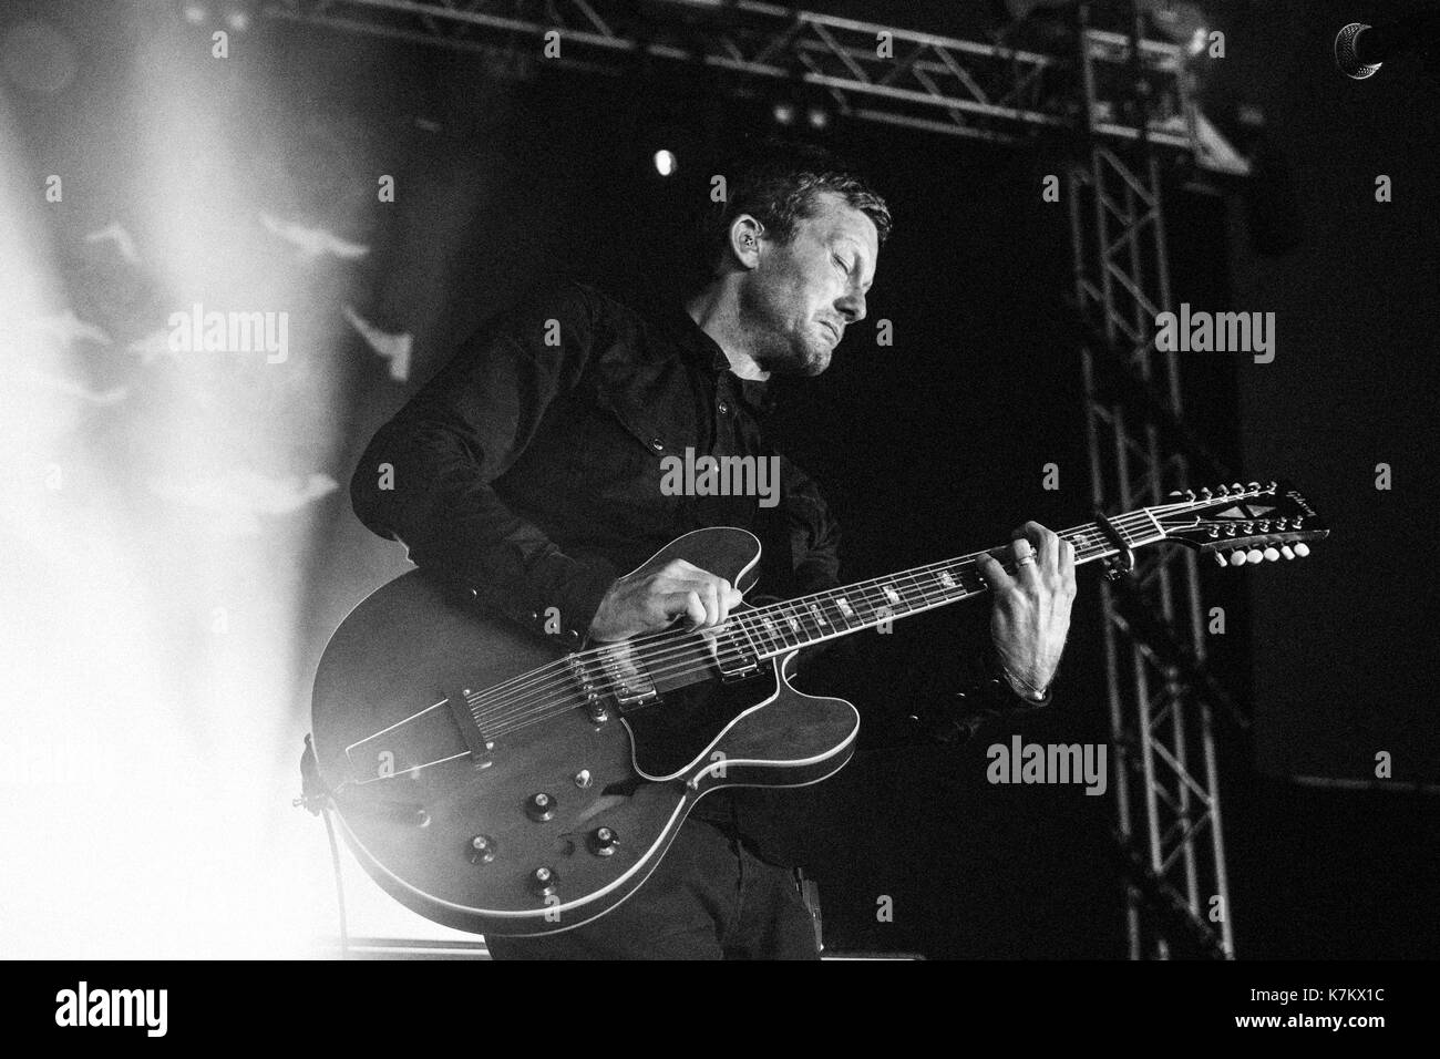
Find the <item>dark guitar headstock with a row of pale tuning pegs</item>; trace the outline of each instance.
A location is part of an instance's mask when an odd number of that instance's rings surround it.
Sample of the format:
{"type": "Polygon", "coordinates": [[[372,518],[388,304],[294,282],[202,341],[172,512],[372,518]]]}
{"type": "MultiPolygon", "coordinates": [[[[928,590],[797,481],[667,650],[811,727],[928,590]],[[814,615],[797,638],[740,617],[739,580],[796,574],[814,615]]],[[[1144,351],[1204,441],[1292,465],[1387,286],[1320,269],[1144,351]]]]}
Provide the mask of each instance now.
{"type": "Polygon", "coordinates": [[[1221,566],[1305,558],[1310,553],[1306,540],[1331,533],[1309,501],[1283,481],[1234,483],[1171,496],[1174,503],[1149,507],[1149,514],[1166,537],[1212,553],[1221,566]]]}

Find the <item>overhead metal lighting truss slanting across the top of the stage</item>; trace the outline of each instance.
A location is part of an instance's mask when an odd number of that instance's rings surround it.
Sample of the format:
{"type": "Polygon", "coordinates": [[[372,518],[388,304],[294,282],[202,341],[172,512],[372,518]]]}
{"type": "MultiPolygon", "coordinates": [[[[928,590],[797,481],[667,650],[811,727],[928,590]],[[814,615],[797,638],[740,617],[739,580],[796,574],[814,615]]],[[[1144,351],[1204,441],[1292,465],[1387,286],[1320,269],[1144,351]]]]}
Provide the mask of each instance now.
{"type": "Polygon", "coordinates": [[[647,56],[708,68],[744,92],[786,81],[824,92],[850,118],[1011,143],[1043,131],[1087,130],[1148,143],[1234,171],[1233,153],[1187,102],[1178,45],[1139,43],[1152,89],[1142,128],[1128,118],[1132,40],[1084,30],[1094,98],[1079,105],[1068,56],[962,40],[756,0],[265,0],[272,19],[305,22],[491,55],[507,69],[626,75],[647,56]],[[559,55],[543,58],[546,35],[559,55]],[[1089,121],[1087,121],[1089,117],[1089,121]]]}

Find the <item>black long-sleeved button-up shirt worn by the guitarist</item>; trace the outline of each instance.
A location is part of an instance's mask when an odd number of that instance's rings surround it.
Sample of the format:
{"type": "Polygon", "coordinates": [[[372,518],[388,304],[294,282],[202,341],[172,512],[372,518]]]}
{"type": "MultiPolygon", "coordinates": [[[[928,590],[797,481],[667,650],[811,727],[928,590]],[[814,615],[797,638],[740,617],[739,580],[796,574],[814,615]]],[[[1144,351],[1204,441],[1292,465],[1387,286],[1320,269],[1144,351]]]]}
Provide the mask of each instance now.
{"type": "Polygon", "coordinates": [[[559,617],[573,647],[618,576],[706,526],[760,539],[768,595],[840,584],[838,527],[815,484],[766,442],[769,409],[765,383],[732,373],[681,307],[649,320],[566,284],[461,347],[376,434],[351,500],[422,569],[536,630],[559,617]],[[778,503],[662,488],[665,457],[687,450],[776,457],[778,503]]]}

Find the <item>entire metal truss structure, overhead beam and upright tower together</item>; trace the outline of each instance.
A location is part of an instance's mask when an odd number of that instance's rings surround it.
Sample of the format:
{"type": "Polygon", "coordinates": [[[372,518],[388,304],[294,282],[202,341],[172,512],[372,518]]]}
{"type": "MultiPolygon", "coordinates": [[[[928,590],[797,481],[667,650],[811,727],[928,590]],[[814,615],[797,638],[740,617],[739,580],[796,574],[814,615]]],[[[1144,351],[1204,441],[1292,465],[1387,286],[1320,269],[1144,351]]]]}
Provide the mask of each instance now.
{"type": "MultiPolygon", "coordinates": [[[[652,58],[704,66],[736,95],[765,81],[802,85],[861,121],[1084,143],[1068,166],[1074,292],[1093,331],[1083,350],[1092,499],[1115,514],[1194,486],[1192,468],[1230,477],[1184,426],[1175,354],[1153,347],[1155,317],[1172,304],[1161,161],[1247,166],[1194,105],[1184,49],[1145,39],[1132,6],[1120,9],[1128,32],[1094,27],[1092,7],[1079,6],[1074,55],[752,0],[265,0],[262,13],[482,52],[518,76],[541,63],[624,76],[652,58]],[[543,59],[552,33],[559,55],[543,59]]],[[[1228,957],[1212,723],[1246,722],[1204,669],[1194,553],[1142,555],[1128,579],[1102,586],[1129,952],[1228,957]]]]}

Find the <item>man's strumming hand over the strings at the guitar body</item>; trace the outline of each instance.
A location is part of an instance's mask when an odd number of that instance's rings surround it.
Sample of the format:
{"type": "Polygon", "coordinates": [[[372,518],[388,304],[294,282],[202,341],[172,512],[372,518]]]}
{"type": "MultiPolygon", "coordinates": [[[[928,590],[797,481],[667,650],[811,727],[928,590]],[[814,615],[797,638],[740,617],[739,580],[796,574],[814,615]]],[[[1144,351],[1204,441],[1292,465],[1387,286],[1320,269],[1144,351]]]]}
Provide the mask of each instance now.
{"type": "Polygon", "coordinates": [[[590,640],[629,640],[658,633],[678,615],[693,628],[720,628],[743,596],[724,578],[671,559],[658,569],[641,568],[611,585],[590,622],[590,640]]]}

